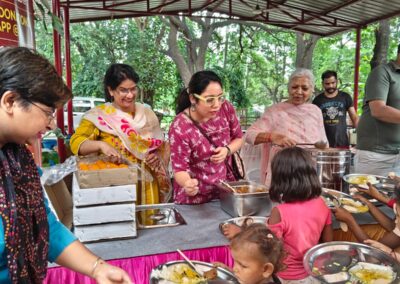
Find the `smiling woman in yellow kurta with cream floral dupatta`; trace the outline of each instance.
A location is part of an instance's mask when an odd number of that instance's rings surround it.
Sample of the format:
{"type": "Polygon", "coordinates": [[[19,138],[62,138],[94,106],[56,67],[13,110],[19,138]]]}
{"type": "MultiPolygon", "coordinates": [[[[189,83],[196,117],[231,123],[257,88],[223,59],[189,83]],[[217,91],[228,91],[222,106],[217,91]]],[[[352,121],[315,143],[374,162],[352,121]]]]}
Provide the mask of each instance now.
{"type": "Polygon", "coordinates": [[[138,203],[154,204],[167,201],[170,193],[169,147],[154,112],[135,102],[138,81],[131,66],[111,65],[104,76],[108,103],[85,113],[70,145],[75,155],[102,153],[136,163],[138,203]]]}

